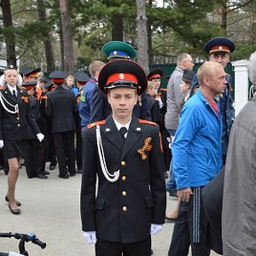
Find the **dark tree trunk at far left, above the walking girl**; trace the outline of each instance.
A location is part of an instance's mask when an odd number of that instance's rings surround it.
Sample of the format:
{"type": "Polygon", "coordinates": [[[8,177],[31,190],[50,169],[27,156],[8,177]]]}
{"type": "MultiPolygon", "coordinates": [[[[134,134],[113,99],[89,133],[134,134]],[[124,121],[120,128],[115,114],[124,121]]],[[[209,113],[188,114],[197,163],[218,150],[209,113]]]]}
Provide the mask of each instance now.
{"type": "Polygon", "coordinates": [[[0,2],[3,11],[3,23],[4,23],[4,37],[6,44],[6,60],[7,67],[13,65],[17,68],[16,64],[16,52],[15,52],[15,35],[12,31],[12,11],[10,0],[4,0],[0,2]]]}

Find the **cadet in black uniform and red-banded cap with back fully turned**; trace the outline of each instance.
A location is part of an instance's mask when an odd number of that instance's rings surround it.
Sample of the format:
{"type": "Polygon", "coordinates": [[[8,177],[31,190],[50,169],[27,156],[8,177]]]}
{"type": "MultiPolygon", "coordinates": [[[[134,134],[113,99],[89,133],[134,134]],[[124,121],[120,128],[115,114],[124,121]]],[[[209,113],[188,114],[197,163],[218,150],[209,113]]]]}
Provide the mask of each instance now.
{"type": "Polygon", "coordinates": [[[67,73],[54,71],[49,77],[57,85],[53,92],[47,94],[45,114],[52,121],[52,134],[59,164],[59,177],[68,179],[76,175],[76,149],[74,147],[77,113],[76,96],[66,90],[64,84],[67,73]],[[69,172],[69,174],[68,174],[69,172]]]}

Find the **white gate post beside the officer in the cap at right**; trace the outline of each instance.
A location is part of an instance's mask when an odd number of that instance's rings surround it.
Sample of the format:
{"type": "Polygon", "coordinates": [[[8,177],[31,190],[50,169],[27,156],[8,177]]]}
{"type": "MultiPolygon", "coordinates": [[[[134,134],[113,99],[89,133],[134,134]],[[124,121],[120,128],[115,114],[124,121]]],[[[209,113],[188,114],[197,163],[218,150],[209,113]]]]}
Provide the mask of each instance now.
{"type": "Polygon", "coordinates": [[[235,71],[235,113],[237,116],[249,97],[247,60],[237,60],[231,64],[235,71]]]}

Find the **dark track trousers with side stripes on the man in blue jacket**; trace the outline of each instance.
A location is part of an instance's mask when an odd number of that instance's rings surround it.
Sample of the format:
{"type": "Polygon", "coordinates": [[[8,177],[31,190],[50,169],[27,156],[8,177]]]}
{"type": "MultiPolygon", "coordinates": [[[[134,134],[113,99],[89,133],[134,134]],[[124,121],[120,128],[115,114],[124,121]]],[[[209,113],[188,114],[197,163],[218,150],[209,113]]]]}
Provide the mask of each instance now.
{"type": "Polygon", "coordinates": [[[204,213],[201,189],[192,188],[193,195],[189,202],[180,202],[168,256],[187,256],[189,245],[194,256],[210,255],[210,247],[206,244],[208,222],[204,213]]]}

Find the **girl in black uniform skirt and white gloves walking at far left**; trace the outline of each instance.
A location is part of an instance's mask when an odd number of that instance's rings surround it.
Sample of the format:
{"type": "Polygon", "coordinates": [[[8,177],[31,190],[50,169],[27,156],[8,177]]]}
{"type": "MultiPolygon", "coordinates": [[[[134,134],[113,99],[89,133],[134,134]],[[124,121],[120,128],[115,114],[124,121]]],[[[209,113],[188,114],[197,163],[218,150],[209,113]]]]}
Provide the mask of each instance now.
{"type": "Polygon", "coordinates": [[[0,148],[4,148],[9,164],[8,191],[5,200],[13,214],[20,214],[20,202],[15,199],[15,185],[20,171],[20,160],[28,125],[36,138],[44,140],[29,106],[28,92],[17,86],[18,72],[9,68],[4,71],[6,84],[0,90],[0,148]]]}

